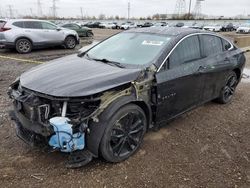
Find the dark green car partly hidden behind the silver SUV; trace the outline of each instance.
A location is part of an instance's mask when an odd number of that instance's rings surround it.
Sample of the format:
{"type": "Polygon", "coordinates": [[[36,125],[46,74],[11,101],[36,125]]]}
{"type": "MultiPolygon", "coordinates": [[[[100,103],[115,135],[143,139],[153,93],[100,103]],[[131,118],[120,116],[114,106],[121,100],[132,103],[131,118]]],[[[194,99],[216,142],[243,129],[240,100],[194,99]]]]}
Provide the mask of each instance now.
{"type": "Polygon", "coordinates": [[[60,25],[60,27],[76,31],[78,33],[79,37],[92,37],[92,36],[94,36],[94,34],[90,28],[85,27],[85,26],[81,26],[80,24],[66,23],[66,24],[60,25]]]}

